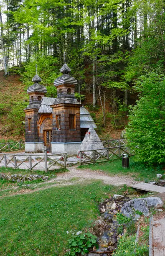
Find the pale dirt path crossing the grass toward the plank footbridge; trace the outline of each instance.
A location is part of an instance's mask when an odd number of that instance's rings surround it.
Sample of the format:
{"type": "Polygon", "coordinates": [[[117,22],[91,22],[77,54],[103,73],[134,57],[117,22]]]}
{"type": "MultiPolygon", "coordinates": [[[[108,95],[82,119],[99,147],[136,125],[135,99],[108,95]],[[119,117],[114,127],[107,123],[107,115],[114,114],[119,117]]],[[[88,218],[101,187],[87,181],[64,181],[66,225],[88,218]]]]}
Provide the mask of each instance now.
{"type": "MultiPolygon", "coordinates": [[[[0,198],[14,195],[31,194],[33,192],[48,189],[51,187],[65,187],[75,184],[89,184],[94,180],[102,180],[104,184],[111,184],[114,186],[120,186],[123,184],[135,184],[136,181],[127,175],[123,176],[108,176],[102,171],[91,171],[90,169],[79,169],[77,166],[71,166],[68,168],[69,172],[58,174],[56,178],[50,179],[44,183],[36,183],[30,185],[24,185],[21,190],[17,190],[18,187],[13,187],[8,195],[2,195],[0,198]],[[38,186],[42,187],[38,187],[38,186]],[[28,187],[28,188],[27,188],[28,187]],[[30,189],[32,188],[32,190],[30,189]]],[[[5,189],[3,189],[5,190],[5,189]]],[[[2,190],[1,190],[2,191],[2,190]]]]}

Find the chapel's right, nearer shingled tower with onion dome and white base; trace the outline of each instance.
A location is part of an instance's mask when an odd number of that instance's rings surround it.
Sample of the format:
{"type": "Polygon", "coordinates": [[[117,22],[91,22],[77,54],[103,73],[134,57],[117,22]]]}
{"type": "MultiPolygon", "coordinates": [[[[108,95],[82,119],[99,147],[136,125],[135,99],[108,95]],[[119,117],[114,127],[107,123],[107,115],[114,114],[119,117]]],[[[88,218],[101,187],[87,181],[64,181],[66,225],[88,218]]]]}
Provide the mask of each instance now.
{"type": "Polygon", "coordinates": [[[51,105],[53,110],[52,153],[75,154],[81,144],[81,104],[74,96],[77,80],[69,75],[71,69],[66,64],[63,64],[60,72],[61,77],[54,81],[57,87],[57,98],[51,105]]]}

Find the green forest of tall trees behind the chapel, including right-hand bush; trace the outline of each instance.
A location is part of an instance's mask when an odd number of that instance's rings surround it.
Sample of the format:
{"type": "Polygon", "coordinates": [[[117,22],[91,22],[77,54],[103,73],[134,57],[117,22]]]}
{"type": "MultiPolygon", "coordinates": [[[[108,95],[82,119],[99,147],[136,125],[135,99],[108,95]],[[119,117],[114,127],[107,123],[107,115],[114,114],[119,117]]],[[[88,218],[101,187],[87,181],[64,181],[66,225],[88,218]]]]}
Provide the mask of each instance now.
{"type": "MultiPolygon", "coordinates": [[[[0,67],[6,77],[20,75],[24,95],[37,69],[47,97],[56,97],[65,53],[76,97],[87,100],[97,126],[124,129],[128,115],[125,136],[138,161],[161,164],[164,28],[163,0],[1,0],[0,67]]],[[[0,102],[18,136],[27,101],[0,102]]]]}

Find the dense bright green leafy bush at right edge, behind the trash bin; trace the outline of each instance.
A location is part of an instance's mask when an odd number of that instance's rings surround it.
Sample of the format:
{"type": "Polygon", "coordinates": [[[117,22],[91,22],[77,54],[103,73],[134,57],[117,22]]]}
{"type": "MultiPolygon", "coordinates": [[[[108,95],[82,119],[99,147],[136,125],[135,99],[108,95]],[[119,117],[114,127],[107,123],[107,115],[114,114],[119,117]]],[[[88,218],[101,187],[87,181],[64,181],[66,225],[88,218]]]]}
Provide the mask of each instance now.
{"type": "Polygon", "coordinates": [[[140,77],[135,85],[139,100],[129,111],[128,145],[134,150],[136,161],[150,165],[164,161],[164,88],[162,75],[150,73],[140,77]]]}

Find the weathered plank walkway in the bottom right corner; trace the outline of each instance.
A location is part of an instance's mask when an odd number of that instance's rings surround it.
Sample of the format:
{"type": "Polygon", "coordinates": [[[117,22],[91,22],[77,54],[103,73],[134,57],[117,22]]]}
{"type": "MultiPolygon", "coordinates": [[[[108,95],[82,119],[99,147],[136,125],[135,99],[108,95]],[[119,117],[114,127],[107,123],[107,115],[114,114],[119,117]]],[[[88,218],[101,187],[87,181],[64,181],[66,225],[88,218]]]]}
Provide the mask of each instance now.
{"type": "Polygon", "coordinates": [[[165,256],[165,214],[151,217],[149,241],[149,256],[165,256]]]}

